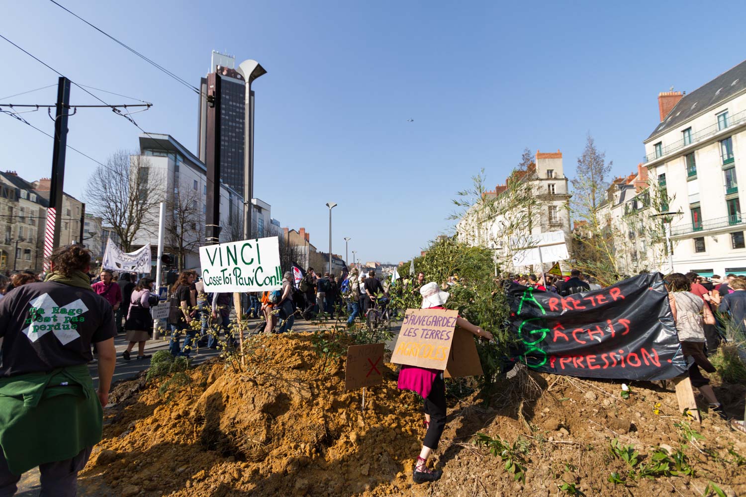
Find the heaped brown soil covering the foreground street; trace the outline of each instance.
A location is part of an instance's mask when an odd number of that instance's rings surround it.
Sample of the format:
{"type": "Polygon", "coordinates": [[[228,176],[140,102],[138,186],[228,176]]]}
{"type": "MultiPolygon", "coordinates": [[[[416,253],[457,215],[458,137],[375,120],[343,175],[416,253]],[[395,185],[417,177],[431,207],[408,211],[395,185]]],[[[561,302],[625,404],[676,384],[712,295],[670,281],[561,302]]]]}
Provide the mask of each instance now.
{"type": "MultiPolygon", "coordinates": [[[[683,446],[695,477],[639,479],[636,487],[607,481],[626,472],[609,440],[633,443],[645,462],[659,444],[682,446],[672,387],[618,384],[519,371],[501,384],[491,408],[472,394],[452,399],[442,443],[431,458],[443,478],[413,485],[424,436],[421,401],[396,387],[395,366],[383,384],[344,390],[343,361],[323,361],[310,334],[275,335],[260,345],[244,372],[218,362],[190,372],[192,386],[165,403],[144,376],[120,384],[105,413],[104,440],[84,472],[83,495],[110,486],[120,496],[501,496],[562,494],[575,484],[586,495],[701,496],[708,481],[730,495],[746,494],[746,437],[707,417],[692,427],[705,440],[683,446]],[[190,394],[191,392],[191,394],[190,394]],[[656,403],[659,414],[653,413],[656,403]],[[527,447],[526,482],[474,445],[482,432],[527,447]]],[[[739,419],[746,387],[715,390],[739,419]]]]}

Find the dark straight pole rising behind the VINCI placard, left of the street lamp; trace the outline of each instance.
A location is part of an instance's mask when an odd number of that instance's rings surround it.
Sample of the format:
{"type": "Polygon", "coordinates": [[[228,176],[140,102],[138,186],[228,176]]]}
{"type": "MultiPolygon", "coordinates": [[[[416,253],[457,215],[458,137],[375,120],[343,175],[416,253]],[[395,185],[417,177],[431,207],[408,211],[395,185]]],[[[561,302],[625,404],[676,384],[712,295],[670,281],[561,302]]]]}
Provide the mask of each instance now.
{"type": "Polygon", "coordinates": [[[207,209],[205,214],[205,241],[220,243],[220,113],[222,78],[216,72],[207,75],[207,209]]]}

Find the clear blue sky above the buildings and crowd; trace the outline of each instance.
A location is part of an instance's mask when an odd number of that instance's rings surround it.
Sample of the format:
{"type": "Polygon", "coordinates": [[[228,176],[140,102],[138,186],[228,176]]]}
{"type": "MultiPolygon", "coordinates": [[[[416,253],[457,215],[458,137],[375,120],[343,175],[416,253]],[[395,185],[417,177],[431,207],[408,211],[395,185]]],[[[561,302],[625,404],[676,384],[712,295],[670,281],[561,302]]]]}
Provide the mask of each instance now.
{"type": "MultiPolygon", "coordinates": [[[[481,168],[490,184],[504,183],[525,147],[560,149],[573,177],[590,132],[614,174],[629,174],[659,121],[658,92],[691,92],[746,55],[746,34],[728,22],[744,18],[739,2],[717,19],[686,1],[60,3],[195,86],[213,49],[260,61],[268,74],[254,83],[254,196],[322,250],[325,203],[338,203],[333,251],[343,254],[349,236],[366,261],[418,254],[453,226],[454,192],[481,168]]],[[[195,151],[189,89],[49,1],[3,10],[5,37],[77,83],[153,102],[138,124],[195,151]]],[[[0,98],[57,82],[1,39],[0,63],[0,98]]],[[[55,95],[9,100],[51,104],[55,95]]],[[[75,87],[71,101],[95,103],[75,87]]],[[[45,114],[25,117],[51,133],[45,114]]],[[[69,145],[101,162],[136,148],[140,133],[108,110],[79,110],[69,130],[69,145]]],[[[3,171],[48,177],[51,150],[51,139],[0,115],[3,171]]],[[[81,197],[93,168],[69,151],[66,191],[81,197]]]]}

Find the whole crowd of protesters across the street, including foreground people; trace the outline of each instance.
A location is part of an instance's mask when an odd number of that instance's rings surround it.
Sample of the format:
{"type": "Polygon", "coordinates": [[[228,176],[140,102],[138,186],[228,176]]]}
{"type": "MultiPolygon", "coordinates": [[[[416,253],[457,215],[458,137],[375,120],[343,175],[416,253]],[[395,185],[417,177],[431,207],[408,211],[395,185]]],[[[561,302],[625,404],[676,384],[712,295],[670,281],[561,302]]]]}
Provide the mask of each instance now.
{"type": "MultiPolygon", "coordinates": [[[[145,353],[153,332],[151,310],[163,305],[150,276],[137,279],[131,273],[106,269],[93,275],[90,253],[77,245],[55,250],[50,262],[43,278],[22,272],[1,279],[0,496],[13,495],[19,475],[35,466],[40,467],[43,488],[56,488],[54,495],[75,495],[77,472],[101,439],[101,413],[107,405],[116,362],[114,337],[126,335],[123,361],[133,358],[135,346],[136,360],[147,360],[151,357],[145,353]],[[88,364],[95,361],[98,390],[93,390],[88,370],[88,364]],[[60,422],[78,429],[60,430],[60,422]],[[21,433],[33,434],[33,440],[19,436],[21,433]],[[34,449],[27,451],[27,446],[34,449]]],[[[360,272],[354,265],[338,275],[317,273],[314,268],[291,269],[282,273],[280,289],[243,295],[245,317],[260,319],[253,332],[291,332],[299,319],[337,320],[351,329],[370,326],[371,315],[396,317],[403,312],[390,303],[404,294],[421,299],[422,309],[445,310],[446,290],[468,284],[455,274],[446,282],[429,282],[422,272],[406,279],[395,273],[381,281],[374,271],[360,272]]],[[[565,298],[577,306],[577,299],[570,296],[602,290],[592,276],[579,270],[566,277],[527,274],[495,280],[496,289],[510,285],[523,292],[523,300],[538,303],[536,297],[541,294],[549,302],[562,301],[563,306],[565,298]]],[[[702,370],[715,371],[709,356],[727,336],[727,326],[745,330],[746,278],[727,275],[707,279],[696,273],[672,273],[665,277],[665,291],[680,350],[689,361],[692,386],[706,399],[710,412],[724,417],[702,370]]],[[[198,271],[184,270],[165,297],[173,356],[189,358],[200,347],[224,353],[236,349],[236,332],[231,326],[233,294],[206,291],[198,271]]],[[[457,317],[456,326],[476,338],[494,339],[489,330],[463,317],[457,317]]],[[[627,360],[632,364],[631,358],[627,360]]],[[[443,373],[404,364],[398,376],[398,387],[418,393],[424,402],[427,431],[413,470],[416,483],[436,481],[442,475],[440,470],[428,469],[427,460],[438,448],[445,428],[443,373]]],[[[733,419],[730,425],[746,433],[742,420],[733,419]]]]}

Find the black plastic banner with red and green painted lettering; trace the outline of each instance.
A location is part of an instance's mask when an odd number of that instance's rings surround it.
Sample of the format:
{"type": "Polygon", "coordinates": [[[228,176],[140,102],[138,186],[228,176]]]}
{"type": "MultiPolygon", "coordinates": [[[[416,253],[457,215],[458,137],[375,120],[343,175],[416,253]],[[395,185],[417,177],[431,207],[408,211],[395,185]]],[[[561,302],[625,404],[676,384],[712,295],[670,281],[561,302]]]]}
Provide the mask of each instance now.
{"type": "Polygon", "coordinates": [[[515,361],[533,370],[609,379],[669,379],[686,360],[660,273],[560,297],[513,283],[510,326],[515,361]]]}

